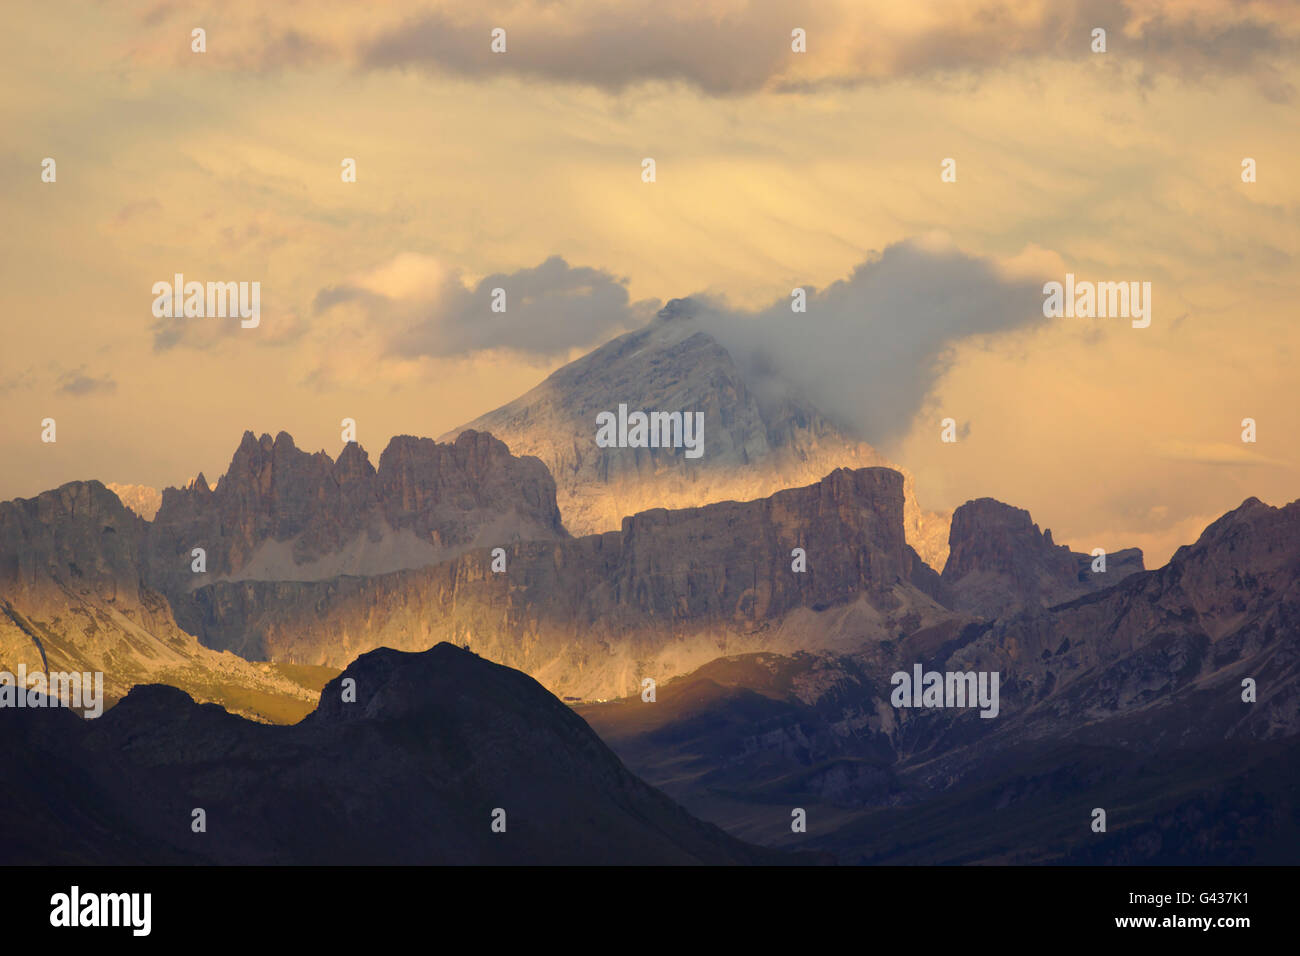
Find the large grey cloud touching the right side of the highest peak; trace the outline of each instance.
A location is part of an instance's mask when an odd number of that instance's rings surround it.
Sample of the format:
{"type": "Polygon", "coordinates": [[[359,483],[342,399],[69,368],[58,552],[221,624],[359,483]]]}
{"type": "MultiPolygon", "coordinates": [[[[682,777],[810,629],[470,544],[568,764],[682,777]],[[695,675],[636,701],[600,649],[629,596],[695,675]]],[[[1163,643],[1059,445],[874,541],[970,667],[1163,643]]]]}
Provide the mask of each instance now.
{"type": "MultiPolygon", "coordinates": [[[[888,246],[824,290],[745,312],[692,297],[760,403],[805,399],[870,442],[901,438],[954,346],[1041,324],[1043,284],[937,239],[888,246]]],[[[970,423],[963,427],[970,431],[970,423]]]]}

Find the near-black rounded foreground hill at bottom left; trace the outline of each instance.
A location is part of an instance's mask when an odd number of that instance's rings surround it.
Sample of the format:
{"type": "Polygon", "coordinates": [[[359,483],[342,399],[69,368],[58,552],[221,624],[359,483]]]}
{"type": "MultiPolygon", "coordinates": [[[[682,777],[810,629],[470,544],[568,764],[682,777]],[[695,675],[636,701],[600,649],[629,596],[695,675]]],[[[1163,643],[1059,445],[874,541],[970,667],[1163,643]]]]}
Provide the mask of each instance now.
{"type": "Polygon", "coordinates": [[[0,709],[0,734],[3,864],[818,861],[694,819],[534,680],[447,644],[358,658],[291,727],[150,685],[96,721],[0,709]]]}

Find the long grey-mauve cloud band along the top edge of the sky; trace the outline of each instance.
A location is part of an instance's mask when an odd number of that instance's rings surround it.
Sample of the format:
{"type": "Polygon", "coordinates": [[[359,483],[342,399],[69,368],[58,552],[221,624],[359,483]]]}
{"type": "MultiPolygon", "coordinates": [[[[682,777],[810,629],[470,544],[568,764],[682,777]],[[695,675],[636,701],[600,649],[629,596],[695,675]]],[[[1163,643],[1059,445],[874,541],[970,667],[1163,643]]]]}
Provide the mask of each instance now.
{"type": "Polygon", "coordinates": [[[1152,72],[1253,73],[1270,98],[1286,94],[1273,62],[1297,48],[1295,16],[1279,7],[1230,4],[1197,4],[1195,13],[1174,3],[1119,0],[965,7],[914,0],[876,9],[849,0],[645,0],[618,8],[567,4],[560,21],[550,4],[537,3],[494,20],[422,13],[368,42],[360,60],[368,68],[516,73],[615,91],[682,81],[732,95],[982,72],[1036,56],[1082,60],[1091,55],[1092,29],[1101,26],[1114,56],[1138,59],[1152,72]],[[515,38],[504,55],[493,53],[486,40],[498,25],[515,38]],[[793,27],[806,31],[803,55],[790,49],[793,27]]]}

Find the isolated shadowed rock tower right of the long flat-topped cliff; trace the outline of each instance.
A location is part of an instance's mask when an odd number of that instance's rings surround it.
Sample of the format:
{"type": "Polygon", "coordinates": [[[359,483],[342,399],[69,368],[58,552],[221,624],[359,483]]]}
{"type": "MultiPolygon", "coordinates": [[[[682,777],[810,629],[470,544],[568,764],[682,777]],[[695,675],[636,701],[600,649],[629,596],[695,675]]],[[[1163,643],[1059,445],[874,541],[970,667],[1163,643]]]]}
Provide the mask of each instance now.
{"type": "Polygon", "coordinates": [[[1061,604],[1143,570],[1136,548],[1108,554],[1104,572],[1093,572],[1092,562],[1091,554],[1053,542],[1028,511],[978,498],[953,512],[942,581],[953,607],[996,618],[1061,604]]]}

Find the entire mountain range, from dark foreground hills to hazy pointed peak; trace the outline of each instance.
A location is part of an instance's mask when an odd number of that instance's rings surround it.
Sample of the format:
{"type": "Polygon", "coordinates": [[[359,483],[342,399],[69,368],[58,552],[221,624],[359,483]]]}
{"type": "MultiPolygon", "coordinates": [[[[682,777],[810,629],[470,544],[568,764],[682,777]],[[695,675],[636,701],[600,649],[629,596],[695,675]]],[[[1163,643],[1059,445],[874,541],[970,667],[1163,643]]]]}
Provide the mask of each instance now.
{"type": "Polygon", "coordinates": [[[84,760],[108,808],[60,767],[12,819],[46,801],[100,827],[87,858],[139,861],[789,861],[699,821],[846,862],[1295,861],[1300,502],[1247,499],[1147,570],[992,498],[923,512],[906,472],[792,394],[751,389],[673,302],[445,440],[393,438],[378,467],[248,432],[214,486],[166,489],[151,519],[143,490],[98,481],[0,503],[0,670],[103,671],[121,698],[94,722],[0,714],[30,766],[84,760]],[[619,405],[702,412],[705,455],[597,447],[619,405]],[[914,669],[996,674],[996,718],[893,705],[914,669]],[[343,679],[359,705],[337,706],[343,679]],[[330,787],[342,803],[308,805],[330,787]],[[413,826],[403,801],[428,787],[472,838],[309,845],[358,814],[413,826]],[[303,829],[277,843],[238,792],[303,829]],[[547,827],[573,803],[616,848],[494,842],[474,814],[495,792],[547,827]],[[250,836],[160,829],[198,799],[250,836]]]}

